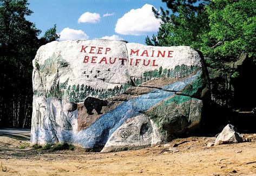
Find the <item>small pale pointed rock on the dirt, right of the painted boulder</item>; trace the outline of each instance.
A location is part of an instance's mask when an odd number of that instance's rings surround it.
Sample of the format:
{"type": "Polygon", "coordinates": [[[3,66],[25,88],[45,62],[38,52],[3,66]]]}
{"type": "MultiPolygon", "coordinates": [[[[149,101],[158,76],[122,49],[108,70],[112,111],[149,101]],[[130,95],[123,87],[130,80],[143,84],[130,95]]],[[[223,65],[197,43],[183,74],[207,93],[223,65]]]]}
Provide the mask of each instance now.
{"type": "Polygon", "coordinates": [[[243,142],[241,135],[235,131],[235,127],[231,124],[225,126],[221,133],[216,137],[214,145],[232,144],[243,142]]]}

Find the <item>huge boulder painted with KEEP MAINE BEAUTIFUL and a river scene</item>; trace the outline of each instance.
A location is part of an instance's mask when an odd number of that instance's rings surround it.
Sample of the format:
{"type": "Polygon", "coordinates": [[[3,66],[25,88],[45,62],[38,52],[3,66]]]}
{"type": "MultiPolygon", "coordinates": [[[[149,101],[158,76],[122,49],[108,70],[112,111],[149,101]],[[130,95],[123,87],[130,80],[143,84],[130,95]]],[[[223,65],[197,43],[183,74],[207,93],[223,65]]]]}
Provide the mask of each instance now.
{"type": "Polygon", "coordinates": [[[208,79],[188,46],[54,41],[33,60],[31,143],[139,149],[195,130],[208,79]]]}

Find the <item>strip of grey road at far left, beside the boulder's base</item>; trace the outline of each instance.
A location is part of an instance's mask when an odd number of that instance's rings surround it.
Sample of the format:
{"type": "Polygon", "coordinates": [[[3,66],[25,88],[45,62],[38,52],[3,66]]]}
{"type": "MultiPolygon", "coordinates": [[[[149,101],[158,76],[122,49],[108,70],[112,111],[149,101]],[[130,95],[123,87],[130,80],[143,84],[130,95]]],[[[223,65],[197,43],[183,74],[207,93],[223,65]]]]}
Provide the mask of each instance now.
{"type": "Polygon", "coordinates": [[[3,128],[0,129],[0,136],[27,140],[30,139],[30,129],[3,128]]]}

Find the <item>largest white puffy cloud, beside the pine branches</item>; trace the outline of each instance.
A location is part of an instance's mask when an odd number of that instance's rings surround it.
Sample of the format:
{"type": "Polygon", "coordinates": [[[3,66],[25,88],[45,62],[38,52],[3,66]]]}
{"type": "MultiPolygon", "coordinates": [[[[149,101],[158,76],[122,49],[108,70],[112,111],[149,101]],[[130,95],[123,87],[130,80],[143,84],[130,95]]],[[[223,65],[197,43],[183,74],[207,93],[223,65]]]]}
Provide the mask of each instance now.
{"type": "Polygon", "coordinates": [[[124,35],[140,36],[147,32],[156,32],[160,19],[152,12],[153,5],[145,4],[141,9],[132,9],[117,20],[115,32],[124,35]]]}

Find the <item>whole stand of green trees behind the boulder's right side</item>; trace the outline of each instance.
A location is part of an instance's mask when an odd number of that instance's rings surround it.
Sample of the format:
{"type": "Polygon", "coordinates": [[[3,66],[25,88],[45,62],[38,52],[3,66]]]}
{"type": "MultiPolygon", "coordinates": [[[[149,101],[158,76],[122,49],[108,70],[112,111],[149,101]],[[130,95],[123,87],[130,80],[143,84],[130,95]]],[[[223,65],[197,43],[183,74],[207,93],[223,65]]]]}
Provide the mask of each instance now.
{"type": "MultiPolygon", "coordinates": [[[[210,71],[212,96],[215,102],[226,107],[234,106],[237,90],[234,82],[241,75],[256,78],[255,74],[244,74],[255,68],[256,2],[253,0],[162,0],[170,9],[155,13],[161,19],[156,36],[146,38],[147,45],[187,45],[202,51],[210,71]],[[246,55],[250,67],[238,68],[241,57],[246,55]]],[[[245,59],[244,59],[245,60],[245,59]]],[[[242,61],[244,61],[242,60],[242,61]]],[[[249,64],[247,64],[248,66],[249,64]]],[[[250,84],[250,79],[246,79],[250,84]]],[[[253,84],[252,88],[256,88],[253,84]]],[[[240,88],[242,90],[242,88],[240,88]]],[[[245,90],[245,88],[244,88],[245,90]]],[[[250,88],[251,94],[253,89],[250,88]]],[[[244,94],[248,97],[248,94],[244,94]]],[[[253,94],[252,99],[256,96],[253,94]]],[[[241,97],[240,97],[241,98],[241,97]]],[[[244,100],[243,100],[244,101],[244,100]]],[[[247,104],[248,105],[248,104],[247,104]]],[[[251,108],[256,104],[251,102],[251,108]]]]}

